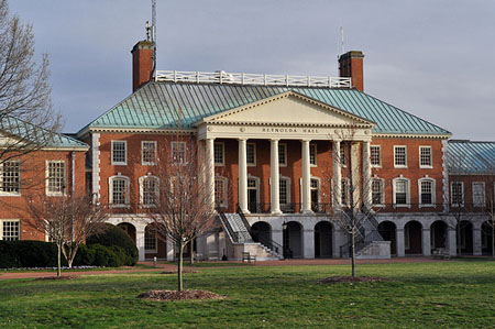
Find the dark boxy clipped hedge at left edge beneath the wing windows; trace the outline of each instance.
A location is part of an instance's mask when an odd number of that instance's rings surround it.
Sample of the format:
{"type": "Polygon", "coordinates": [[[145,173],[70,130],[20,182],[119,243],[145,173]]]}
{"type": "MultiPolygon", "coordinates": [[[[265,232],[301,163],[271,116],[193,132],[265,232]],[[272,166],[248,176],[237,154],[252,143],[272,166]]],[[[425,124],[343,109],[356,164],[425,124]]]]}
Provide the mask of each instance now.
{"type": "MultiPolygon", "coordinates": [[[[0,241],[0,267],[54,267],[57,246],[43,241],[0,241]]],[[[67,262],[62,255],[62,265],[67,262]]]]}

